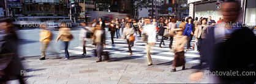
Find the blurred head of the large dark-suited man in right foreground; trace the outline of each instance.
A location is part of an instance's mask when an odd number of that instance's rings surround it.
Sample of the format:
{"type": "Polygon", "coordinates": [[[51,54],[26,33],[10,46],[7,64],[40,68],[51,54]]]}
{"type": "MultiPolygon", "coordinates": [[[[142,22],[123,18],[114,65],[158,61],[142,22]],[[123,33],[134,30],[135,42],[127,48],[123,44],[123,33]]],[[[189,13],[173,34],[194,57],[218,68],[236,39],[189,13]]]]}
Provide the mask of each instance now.
{"type": "Polygon", "coordinates": [[[239,17],[239,7],[235,2],[226,2],[222,6],[222,15],[226,23],[235,22],[239,17]]]}

